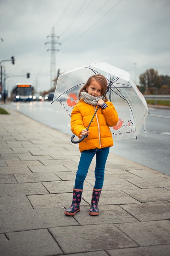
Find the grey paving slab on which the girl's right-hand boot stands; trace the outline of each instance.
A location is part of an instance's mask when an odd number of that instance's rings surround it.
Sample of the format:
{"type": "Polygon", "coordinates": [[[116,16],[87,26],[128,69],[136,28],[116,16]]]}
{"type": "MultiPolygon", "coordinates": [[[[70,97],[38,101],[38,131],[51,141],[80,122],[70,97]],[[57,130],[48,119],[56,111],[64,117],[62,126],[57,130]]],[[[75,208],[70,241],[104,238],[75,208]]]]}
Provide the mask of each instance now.
{"type": "Polygon", "coordinates": [[[138,222],[119,206],[100,206],[100,214],[96,217],[89,215],[89,209],[90,206],[81,206],[80,212],[74,216],[80,225],[138,222]]]}

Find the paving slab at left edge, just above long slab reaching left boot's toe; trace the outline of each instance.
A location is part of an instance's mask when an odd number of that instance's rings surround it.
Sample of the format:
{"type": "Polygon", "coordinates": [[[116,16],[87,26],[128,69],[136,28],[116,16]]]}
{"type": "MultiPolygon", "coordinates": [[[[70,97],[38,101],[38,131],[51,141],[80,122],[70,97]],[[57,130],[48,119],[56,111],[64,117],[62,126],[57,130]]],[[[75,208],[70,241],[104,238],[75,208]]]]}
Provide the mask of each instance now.
{"type": "Polygon", "coordinates": [[[13,212],[18,209],[33,209],[25,195],[0,196],[0,213],[13,212]]]}

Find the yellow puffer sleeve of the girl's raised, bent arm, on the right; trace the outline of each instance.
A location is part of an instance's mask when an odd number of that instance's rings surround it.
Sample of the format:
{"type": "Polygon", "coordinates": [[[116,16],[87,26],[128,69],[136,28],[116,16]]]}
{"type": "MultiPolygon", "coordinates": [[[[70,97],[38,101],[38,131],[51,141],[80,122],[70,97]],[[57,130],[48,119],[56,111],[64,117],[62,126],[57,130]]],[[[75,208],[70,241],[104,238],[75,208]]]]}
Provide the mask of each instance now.
{"type": "Polygon", "coordinates": [[[118,113],[115,110],[115,107],[112,104],[112,102],[106,102],[106,104],[108,105],[108,107],[103,109],[103,114],[106,119],[107,125],[113,127],[119,121],[118,113]]]}

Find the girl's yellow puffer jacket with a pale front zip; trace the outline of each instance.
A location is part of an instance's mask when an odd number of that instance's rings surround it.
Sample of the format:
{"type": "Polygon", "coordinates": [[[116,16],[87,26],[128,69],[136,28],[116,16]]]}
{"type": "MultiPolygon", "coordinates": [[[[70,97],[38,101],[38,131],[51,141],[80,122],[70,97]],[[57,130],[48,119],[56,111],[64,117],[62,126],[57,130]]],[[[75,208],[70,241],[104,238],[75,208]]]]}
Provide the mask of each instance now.
{"type": "MultiPolygon", "coordinates": [[[[106,148],[113,146],[112,132],[109,128],[118,123],[118,113],[112,102],[106,101],[108,107],[98,111],[89,127],[89,136],[79,143],[80,152],[87,149],[106,148]]],[[[83,129],[89,125],[97,106],[92,106],[81,99],[74,106],[71,114],[71,130],[80,137],[83,129]]]]}

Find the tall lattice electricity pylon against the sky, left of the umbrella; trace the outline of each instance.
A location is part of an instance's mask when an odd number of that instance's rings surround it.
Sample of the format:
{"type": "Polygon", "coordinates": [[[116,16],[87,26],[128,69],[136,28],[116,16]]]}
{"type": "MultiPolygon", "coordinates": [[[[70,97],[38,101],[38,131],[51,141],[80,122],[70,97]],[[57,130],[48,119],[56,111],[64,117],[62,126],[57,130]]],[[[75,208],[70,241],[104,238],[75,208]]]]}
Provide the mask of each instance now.
{"type": "Polygon", "coordinates": [[[51,38],[50,42],[50,49],[47,49],[47,51],[51,51],[51,64],[50,64],[50,89],[52,88],[52,81],[55,79],[56,76],[56,51],[58,52],[59,49],[56,49],[56,44],[61,44],[56,41],[56,38],[58,39],[59,36],[56,36],[54,27],[52,27],[51,35],[47,36],[47,38],[51,38]]]}

